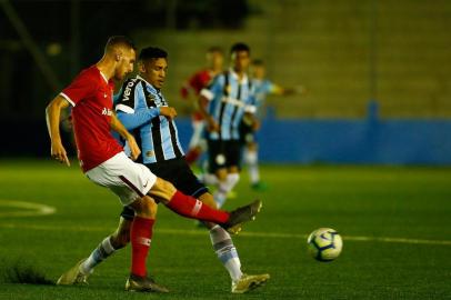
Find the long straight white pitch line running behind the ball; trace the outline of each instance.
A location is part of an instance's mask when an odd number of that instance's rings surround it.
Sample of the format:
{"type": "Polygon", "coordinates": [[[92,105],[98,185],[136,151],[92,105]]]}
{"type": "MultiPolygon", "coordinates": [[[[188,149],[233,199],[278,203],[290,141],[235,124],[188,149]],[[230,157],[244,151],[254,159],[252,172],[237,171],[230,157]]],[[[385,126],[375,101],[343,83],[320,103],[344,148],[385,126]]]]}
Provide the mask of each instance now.
{"type": "MultiPolygon", "coordinates": [[[[0,228],[22,228],[33,230],[48,230],[48,231],[112,231],[113,228],[108,227],[51,227],[51,226],[37,226],[37,224],[17,224],[17,223],[0,223],[0,228]]],[[[158,228],[156,233],[166,234],[180,234],[180,236],[204,236],[203,230],[183,230],[183,229],[169,229],[158,228]]],[[[283,233],[283,232],[240,232],[239,236],[250,238],[270,238],[270,239],[302,239],[305,240],[308,234],[283,233]]],[[[344,241],[374,241],[374,242],[393,242],[393,243],[412,243],[412,244],[439,244],[451,246],[451,240],[424,240],[424,239],[407,239],[407,238],[387,238],[387,237],[353,237],[343,236],[344,241]]]]}

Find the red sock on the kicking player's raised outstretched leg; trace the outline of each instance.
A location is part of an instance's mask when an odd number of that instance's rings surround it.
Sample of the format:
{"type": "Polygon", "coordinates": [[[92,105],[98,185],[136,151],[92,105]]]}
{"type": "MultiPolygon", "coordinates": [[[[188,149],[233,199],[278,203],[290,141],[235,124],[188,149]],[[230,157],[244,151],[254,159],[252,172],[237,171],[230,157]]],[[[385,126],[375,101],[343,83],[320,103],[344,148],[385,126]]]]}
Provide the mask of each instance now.
{"type": "Polygon", "coordinates": [[[166,204],[170,210],[191,219],[224,223],[229,220],[229,213],[223,210],[212,209],[202,201],[177,191],[172,199],[166,204]]]}

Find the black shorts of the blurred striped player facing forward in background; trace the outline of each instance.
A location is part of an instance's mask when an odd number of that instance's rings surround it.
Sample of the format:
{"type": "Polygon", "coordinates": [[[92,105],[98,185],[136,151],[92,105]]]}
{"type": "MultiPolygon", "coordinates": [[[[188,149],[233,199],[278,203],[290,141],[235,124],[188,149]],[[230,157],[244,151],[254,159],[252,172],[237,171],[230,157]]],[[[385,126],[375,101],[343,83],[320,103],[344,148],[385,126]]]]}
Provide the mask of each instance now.
{"type": "Polygon", "coordinates": [[[208,140],[209,171],[214,173],[219,169],[241,166],[240,140],[208,140]]]}

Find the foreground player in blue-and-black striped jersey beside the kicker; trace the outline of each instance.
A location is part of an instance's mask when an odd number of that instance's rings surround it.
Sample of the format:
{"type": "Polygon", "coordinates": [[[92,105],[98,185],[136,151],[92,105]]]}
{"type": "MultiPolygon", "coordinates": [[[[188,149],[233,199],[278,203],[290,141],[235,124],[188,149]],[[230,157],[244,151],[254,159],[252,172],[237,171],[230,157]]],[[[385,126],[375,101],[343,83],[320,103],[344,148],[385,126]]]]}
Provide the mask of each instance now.
{"type": "MultiPolygon", "coordinates": [[[[127,80],[116,97],[118,118],[140,143],[142,154],[138,161],[183,193],[216,207],[212,194],[199,182],[184,159],[173,121],[177,112],[168,106],[161,93],[168,69],[167,57],[167,52],[159,48],[142,49],[139,56],[139,74],[127,80]]],[[[133,218],[134,211],[124,207],[117,231],[107,237],[81,264],[86,274],[92,273],[93,268],[117,249],[127,246],[133,218]]],[[[242,273],[240,258],[227,230],[212,222],[206,222],[206,226],[210,230],[210,239],[219,260],[229,271],[233,293],[247,292],[269,279],[269,274],[242,273]]]]}

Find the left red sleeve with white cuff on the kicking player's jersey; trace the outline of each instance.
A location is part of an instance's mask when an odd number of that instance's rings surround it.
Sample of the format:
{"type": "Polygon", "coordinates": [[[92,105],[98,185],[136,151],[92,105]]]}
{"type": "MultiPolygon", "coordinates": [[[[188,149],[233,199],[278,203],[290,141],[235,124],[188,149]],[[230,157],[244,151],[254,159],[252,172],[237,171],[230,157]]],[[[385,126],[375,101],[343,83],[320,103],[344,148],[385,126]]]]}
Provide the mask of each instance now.
{"type": "Polygon", "coordinates": [[[83,71],[60,94],[74,107],[81,100],[91,97],[96,90],[97,80],[89,71],[83,71]]]}

